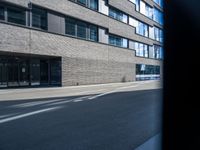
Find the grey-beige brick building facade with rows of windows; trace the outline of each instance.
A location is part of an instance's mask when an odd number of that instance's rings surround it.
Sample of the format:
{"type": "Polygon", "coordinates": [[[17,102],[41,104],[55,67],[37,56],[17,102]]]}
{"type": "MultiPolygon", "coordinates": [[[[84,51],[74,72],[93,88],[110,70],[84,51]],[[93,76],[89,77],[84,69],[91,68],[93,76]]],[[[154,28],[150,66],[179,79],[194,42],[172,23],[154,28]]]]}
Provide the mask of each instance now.
{"type": "Polygon", "coordinates": [[[0,88],[159,79],[162,0],[1,0],[0,88]]]}

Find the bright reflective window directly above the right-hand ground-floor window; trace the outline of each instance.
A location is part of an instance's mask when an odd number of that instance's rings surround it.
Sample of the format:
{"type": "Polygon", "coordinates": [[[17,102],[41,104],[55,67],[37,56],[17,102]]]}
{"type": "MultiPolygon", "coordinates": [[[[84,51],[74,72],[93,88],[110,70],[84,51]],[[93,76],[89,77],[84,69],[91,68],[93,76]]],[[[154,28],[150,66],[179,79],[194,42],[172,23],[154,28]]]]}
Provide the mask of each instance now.
{"type": "Polygon", "coordinates": [[[133,42],[133,49],[136,50],[136,56],[149,57],[148,45],[139,42],[133,42]]]}

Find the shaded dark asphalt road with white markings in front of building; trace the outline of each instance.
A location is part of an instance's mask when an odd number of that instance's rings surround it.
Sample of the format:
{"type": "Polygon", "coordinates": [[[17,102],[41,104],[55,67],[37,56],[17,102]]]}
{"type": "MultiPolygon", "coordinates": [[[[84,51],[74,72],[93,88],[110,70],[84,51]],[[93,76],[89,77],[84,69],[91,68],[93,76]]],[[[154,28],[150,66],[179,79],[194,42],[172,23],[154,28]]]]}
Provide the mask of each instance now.
{"type": "Polygon", "coordinates": [[[0,150],[134,150],[161,131],[161,90],[0,102],[0,150]]]}

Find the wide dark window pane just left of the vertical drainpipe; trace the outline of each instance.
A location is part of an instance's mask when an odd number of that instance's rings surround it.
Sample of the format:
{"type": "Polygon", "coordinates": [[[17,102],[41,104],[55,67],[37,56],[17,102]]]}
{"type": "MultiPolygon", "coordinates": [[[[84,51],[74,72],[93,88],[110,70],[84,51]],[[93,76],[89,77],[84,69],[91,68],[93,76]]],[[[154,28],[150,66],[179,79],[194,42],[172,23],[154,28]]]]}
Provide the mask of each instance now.
{"type": "Polygon", "coordinates": [[[8,22],[26,25],[26,10],[22,8],[8,7],[8,22]]]}

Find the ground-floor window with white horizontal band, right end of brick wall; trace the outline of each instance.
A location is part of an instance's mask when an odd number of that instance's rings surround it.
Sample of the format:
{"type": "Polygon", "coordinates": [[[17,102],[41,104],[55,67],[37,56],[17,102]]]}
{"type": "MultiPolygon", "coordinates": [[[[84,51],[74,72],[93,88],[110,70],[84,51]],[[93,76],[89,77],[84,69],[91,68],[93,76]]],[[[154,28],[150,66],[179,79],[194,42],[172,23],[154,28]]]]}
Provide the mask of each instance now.
{"type": "Polygon", "coordinates": [[[160,79],[160,66],[136,64],[136,80],[160,79]]]}

